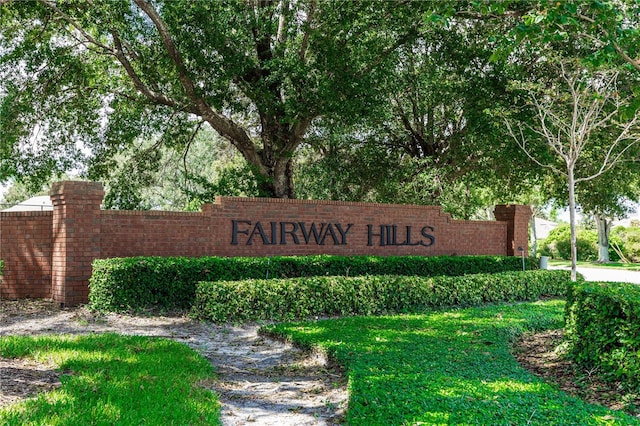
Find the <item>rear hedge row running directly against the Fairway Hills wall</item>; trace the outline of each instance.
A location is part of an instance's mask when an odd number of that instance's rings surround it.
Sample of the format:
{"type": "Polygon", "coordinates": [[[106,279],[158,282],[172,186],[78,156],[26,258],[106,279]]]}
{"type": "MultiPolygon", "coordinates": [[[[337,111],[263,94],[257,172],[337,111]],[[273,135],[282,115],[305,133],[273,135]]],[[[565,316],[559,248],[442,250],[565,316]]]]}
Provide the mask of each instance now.
{"type": "MultiPolygon", "coordinates": [[[[536,259],[525,259],[537,269],[536,259]]],[[[96,259],[89,280],[89,303],[100,311],[188,309],[199,281],[293,278],[321,275],[457,276],[522,269],[507,256],[288,256],[288,257],[129,257],[96,259]]]]}

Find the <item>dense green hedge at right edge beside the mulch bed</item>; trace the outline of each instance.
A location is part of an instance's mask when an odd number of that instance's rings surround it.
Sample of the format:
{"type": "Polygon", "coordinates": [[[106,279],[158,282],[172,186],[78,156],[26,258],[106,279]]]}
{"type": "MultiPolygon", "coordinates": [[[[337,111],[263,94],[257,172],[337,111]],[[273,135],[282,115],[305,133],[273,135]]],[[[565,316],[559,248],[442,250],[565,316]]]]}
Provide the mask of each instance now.
{"type": "Polygon", "coordinates": [[[575,283],[565,309],[569,356],[640,390],[640,286],[575,283]]]}

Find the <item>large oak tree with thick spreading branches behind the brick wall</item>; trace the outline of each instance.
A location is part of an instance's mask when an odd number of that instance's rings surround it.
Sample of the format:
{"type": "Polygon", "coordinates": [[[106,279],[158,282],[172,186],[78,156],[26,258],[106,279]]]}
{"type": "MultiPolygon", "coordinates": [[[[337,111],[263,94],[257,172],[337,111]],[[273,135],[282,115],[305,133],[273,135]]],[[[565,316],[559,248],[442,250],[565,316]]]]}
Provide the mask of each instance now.
{"type": "Polygon", "coordinates": [[[83,156],[100,176],[135,138],[186,145],[206,123],[265,195],[294,197],[293,157],[313,120],[375,110],[423,6],[4,0],[0,178],[83,156]]]}

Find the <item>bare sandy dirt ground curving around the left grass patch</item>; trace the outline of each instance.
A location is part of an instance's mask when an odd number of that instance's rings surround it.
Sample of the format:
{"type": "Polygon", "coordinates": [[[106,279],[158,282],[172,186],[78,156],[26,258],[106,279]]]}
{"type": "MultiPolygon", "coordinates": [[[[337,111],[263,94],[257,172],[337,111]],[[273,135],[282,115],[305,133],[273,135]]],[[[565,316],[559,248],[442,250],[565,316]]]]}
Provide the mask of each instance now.
{"type": "MultiPolygon", "coordinates": [[[[184,316],[95,317],[46,301],[0,300],[0,336],[116,332],[166,337],[211,360],[225,425],[333,425],[341,422],[346,382],[317,354],[259,336],[258,326],[217,326],[184,316]]],[[[59,386],[52,366],[0,358],[0,406],[59,386]]]]}

